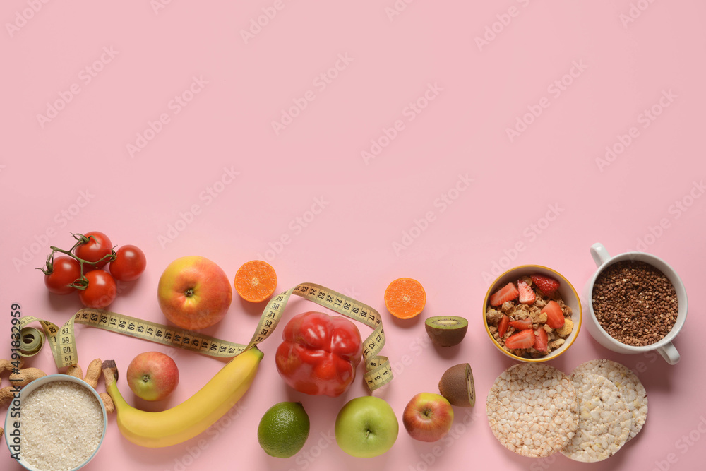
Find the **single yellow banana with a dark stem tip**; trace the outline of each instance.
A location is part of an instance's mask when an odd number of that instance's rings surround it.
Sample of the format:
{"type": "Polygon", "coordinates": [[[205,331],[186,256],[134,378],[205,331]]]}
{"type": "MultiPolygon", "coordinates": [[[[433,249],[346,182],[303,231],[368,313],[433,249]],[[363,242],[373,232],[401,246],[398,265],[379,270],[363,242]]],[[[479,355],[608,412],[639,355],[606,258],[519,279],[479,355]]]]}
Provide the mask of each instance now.
{"type": "Polygon", "coordinates": [[[113,360],[102,364],[105,388],[115,404],[118,429],[140,446],[172,446],[201,434],[238,402],[250,387],[263,359],[257,347],[234,357],[191,398],[168,410],[145,412],[125,402],[113,360]]]}

